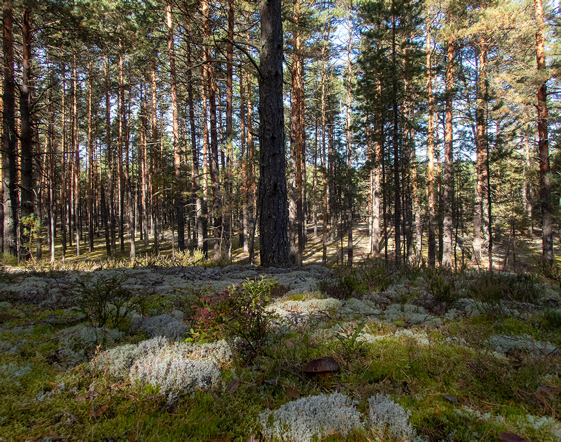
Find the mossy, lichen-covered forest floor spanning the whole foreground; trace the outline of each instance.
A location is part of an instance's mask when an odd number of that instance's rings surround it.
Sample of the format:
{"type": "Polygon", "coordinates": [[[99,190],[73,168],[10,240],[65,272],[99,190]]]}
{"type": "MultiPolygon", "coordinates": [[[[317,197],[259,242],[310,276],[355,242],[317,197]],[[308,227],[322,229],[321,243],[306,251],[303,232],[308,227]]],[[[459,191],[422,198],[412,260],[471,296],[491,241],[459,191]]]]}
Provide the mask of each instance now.
{"type": "Polygon", "coordinates": [[[561,440],[559,267],[537,236],[516,263],[495,241],[516,272],[489,273],[385,265],[355,235],[352,269],[340,243],[317,265],[311,235],[292,270],[236,248],[102,262],[103,238],[4,266],[0,440],[561,440]]]}

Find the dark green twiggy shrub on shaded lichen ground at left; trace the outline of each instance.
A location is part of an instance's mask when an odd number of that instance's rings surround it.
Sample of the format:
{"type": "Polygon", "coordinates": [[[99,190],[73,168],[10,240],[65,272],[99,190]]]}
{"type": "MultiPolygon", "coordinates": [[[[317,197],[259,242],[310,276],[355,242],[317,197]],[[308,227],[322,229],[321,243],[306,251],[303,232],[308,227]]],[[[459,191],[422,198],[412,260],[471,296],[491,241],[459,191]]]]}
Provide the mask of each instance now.
{"type": "Polygon", "coordinates": [[[123,287],[125,276],[93,276],[76,284],[77,309],[97,327],[116,328],[140,306],[141,298],[123,287]]]}

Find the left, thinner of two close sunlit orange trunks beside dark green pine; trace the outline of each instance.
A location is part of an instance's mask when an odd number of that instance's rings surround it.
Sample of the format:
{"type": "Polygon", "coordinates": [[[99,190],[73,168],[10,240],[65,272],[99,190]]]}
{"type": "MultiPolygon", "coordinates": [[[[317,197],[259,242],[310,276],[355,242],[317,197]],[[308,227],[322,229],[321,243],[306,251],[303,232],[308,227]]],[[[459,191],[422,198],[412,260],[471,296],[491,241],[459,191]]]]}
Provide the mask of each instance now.
{"type": "Polygon", "coordinates": [[[430,267],[436,263],[435,255],[435,211],[434,211],[434,95],[433,95],[433,43],[431,41],[431,24],[427,19],[426,34],[426,91],[429,96],[429,125],[427,128],[427,197],[429,206],[429,238],[428,238],[428,262],[430,267]]]}

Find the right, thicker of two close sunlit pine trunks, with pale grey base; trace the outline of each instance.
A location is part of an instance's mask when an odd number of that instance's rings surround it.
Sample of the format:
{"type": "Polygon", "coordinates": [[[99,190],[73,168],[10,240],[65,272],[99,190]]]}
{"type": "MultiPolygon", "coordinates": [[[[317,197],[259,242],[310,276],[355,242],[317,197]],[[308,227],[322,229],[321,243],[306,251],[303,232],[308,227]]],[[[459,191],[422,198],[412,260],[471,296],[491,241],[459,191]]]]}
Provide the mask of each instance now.
{"type": "Polygon", "coordinates": [[[444,238],[442,265],[452,265],[452,206],[453,206],[453,150],[452,150],[452,100],[454,87],[454,43],[452,40],[447,44],[446,63],[446,97],[445,97],[445,133],[444,133],[444,191],[442,196],[444,209],[444,238]]]}

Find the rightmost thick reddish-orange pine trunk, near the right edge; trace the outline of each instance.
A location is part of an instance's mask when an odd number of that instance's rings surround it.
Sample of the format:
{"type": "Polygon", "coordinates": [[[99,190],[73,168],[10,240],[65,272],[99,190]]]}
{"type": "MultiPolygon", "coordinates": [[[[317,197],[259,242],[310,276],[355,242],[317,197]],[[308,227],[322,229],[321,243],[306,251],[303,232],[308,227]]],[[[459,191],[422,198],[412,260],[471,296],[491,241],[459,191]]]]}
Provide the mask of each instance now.
{"type": "MultiPolygon", "coordinates": [[[[536,13],[536,64],[538,75],[545,71],[544,7],[541,0],[534,0],[536,13]]],[[[549,139],[547,85],[543,80],[537,90],[537,149],[540,158],[540,202],[541,202],[541,257],[553,264],[553,216],[551,215],[551,182],[549,177],[549,139]]]]}

